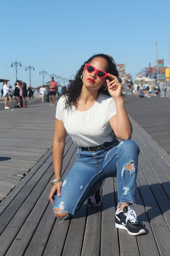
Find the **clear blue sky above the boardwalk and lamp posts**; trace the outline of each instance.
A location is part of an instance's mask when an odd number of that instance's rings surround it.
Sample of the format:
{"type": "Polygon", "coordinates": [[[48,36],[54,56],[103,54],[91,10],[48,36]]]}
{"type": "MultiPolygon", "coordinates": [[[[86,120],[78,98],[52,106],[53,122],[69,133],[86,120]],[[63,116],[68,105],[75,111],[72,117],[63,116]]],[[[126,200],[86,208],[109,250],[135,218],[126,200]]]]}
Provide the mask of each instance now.
{"type": "Polygon", "coordinates": [[[52,73],[70,79],[95,53],[109,53],[135,79],[149,62],[155,65],[156,40],[158,58],[168,65],[169,0],[5,0],[0,10],[0,77],[11,85],[15,60],[22,64],[18,79],[29,85],[25,67],[34,66],[32,86],[38,86],[39,71],[47,71],[45,82],[52,73]]]}

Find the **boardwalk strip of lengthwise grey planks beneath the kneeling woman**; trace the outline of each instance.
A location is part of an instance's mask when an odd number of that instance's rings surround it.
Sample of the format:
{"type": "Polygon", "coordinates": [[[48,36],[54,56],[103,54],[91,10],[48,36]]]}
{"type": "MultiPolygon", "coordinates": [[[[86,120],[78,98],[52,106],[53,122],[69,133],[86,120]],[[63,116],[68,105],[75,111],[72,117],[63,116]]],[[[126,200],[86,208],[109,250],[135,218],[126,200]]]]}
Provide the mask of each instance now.
{"type": "MultiPolygon", "coordinates": [[[[170,255],[170,157],[133,118],[131,122],[132,139],[140,147],[134,210],[147,234],[135,237],[115,228],[116,178],[105,180],[101,206],[85,202],[76,216],[60,223],[48,200],[50,148],[0,204],[0,256],[170,255]]],[[[76,151],[67,136],[63,177],[76,151]]]]}

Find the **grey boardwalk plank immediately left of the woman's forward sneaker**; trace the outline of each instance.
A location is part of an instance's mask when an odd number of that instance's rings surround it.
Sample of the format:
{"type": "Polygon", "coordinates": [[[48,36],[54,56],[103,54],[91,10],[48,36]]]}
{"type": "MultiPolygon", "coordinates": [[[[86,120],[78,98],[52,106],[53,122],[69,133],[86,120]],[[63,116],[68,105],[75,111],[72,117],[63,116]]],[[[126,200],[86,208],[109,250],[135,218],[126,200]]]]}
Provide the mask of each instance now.
{"type": "Polygon", "coordinates": [[[107,178],[103,186],[101,256],[119,256],[118,232],[115,227],[115,207],[113,178],[107,178]]]}

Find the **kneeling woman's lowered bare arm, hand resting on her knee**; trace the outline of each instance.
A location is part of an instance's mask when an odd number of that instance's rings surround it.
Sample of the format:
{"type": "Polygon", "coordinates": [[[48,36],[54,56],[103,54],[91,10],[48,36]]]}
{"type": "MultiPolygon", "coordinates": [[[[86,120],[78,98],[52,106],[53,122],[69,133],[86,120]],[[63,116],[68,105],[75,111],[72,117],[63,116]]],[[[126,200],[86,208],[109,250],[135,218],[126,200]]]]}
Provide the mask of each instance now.
{"type": "MultiPolygon", "coordinates": [[[[54,125],[54,138],[53,138],[53,166],[54,166],[54,179],[61,177],[64,147],[66,141],[66,129],[63,121],[55,118],[54,125]]],[[[53,185],[50,191],[49,200],[54,203],[54,195],[57,191],[57,196],[61,196],[62,182],[53,185]]]]}

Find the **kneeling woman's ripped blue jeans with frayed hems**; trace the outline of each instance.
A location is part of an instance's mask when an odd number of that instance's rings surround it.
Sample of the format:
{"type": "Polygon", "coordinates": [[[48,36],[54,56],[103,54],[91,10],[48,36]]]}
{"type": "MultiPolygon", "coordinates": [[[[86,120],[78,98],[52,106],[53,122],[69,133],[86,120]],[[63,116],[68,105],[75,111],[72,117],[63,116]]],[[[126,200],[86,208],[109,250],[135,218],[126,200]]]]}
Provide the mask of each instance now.
{"type": "Polygon", "coordinates": [[[139,152],[133,140],[115,140],[97,152],[78,149],[76,162],[63,181],[61,197],[55,197],[54,212],[55,208],[63,209],[61,212],[68,213],[66,218],[76,214],[84,201],[97,191],[99,183],[116,176],[118,207],[127,202],[135,204],[139,152]],[[132,168],[126,169],[128,165],[132,168]]]}

